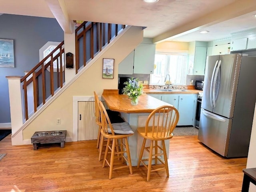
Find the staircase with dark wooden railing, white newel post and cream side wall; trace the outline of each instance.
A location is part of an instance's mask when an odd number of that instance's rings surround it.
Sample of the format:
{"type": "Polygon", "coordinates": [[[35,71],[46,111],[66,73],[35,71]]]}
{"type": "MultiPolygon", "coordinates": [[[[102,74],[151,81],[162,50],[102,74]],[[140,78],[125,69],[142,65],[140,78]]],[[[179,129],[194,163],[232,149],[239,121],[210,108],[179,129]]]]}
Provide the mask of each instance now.
{"type": "MultiPolygon", "coordinates": [[[[142,27],[139,26],[126,26],[123,28],[123,26],[118,25],[118,32],[116,32],[116,24],[93,23],[90,25],[89,22],[85,22],[84,24],[85,25],[82,25],[82,28],[79,29],[81,31],[78,31],[76,34],[76,51],[78,51],[79,55],[76,56],[76,65],[78,68],[72,70],[72,73],[74,72],[72,79],[68,80],[70,77],[66,76],[65,81],[65,73],[68,74],[70,70],[68,68],[64,69],[64,67],[62,67],[61,70],[59,66],[59,71],[57,73],[54,72],[54,78],[52,78],[54,81],[54,86],[52,86],[54,91],[52,92],[51,72],[45,70],[47,68],[44,66],[45,63],[44,65],[42,63],[38,64],[37,66],[40,66],[40,68],[35,70],[35,72],[28,72],[28,74],[22,78],[24,79],[22,84],[20,84],[21,78],[18,76],[8,78],[9,86],[13,86],[13,88],[9,88],[12,145],[31,144],[31,136],[34,132],[43,130],[67,130],[66,142],[77,141],[78,102],[82,101],[84,98],[86,101],[92,101],[93,91],[101,95],[103,89],[116,89],[118,85],[118,64],[143,40],[142,27]],[[84,31],[84,29],[86,31],[84,31]],[[96,29],[98,29],[97,34],[96,29]],[[100,30],[102,30],[102,32],[100,32],[100,30]],[[112,35],[109,35],[110,32],[112,35]],[[84,34],[86,38],[82,38],[84,34]],[[87,37],[87,35],[89,36],[87,37]],[[89,46],[87,46],[88,44],[89,46]],[[91,44],[93,44],[93,46],[90,46],[91,44]],[[93,49],[91,47],[93,47],[93,49]],[[86,57],[82,54],[83,52],[86,53],[86,57]],[[114,58],[114,79],[102,78],[103,58],[114,58]],[[43,70],[44,72],[42,72],[43,70]],[[39,71],[41,71],[41,73],[39,71]],[[61,71],[63,71],[63,83],[61,80],[58,80],[60,79],[61,71]],[[44,80],[46,85],[44,86],[46,88],[45,103],[43,102],[44,95],[42,94],[44,92],[42,90],[43,86],[36,86],[37,84],[42,85],[44,83],[42,81],[43,73],[45,74],[44,80]],[[24,85],[24,82],[26,82],[26,85],[24,85]],[[30,84],[27,82],[30,82],[30,84]],[[35,98],[39,98],[39,102],[35,104],[35,99],[29,99],[31,97],[27,97],[28,101],[32,100],[34,107],[32,107],[32,114],[28,113],[28,119],[26,119],[26,110],[23,109],[25,103],[23,95],[25,95],[24,90],[26,89],[23,87],[27,87],[28,90],[29,86],[30,88],[32,87],[32,95],[36,95],[35,98]],[[56,118],[61,118],[62,123],[56,125],[56,118]]],[[[73,44],[73,42],[71,44],[73,44]]],[[[66,46],[66,48],[68,50],[68,46],[66,46]]],[[[64,58],[63,46],[60,45],[56,49],[61,49],[61,53],[56,54],[56,57],[54,57],[52,53],[50,54],[48,57],[50,58],[50,65],[54,60],[57,61],[58,59],[58,63],[60,63],[62,57],[64,58]],[[62,57],[60,56],[61,54],[62,57]]],[[[64,60],[62,59],[62,65],[63,64],[64,60]]]]}

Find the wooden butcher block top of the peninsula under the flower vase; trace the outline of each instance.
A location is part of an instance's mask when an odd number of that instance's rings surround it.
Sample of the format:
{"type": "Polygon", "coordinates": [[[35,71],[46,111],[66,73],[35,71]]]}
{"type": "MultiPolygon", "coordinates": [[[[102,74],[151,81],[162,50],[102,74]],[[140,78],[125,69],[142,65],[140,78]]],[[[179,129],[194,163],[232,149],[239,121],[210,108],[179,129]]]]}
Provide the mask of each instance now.
{"type": "Polygon", "coordinates": [[[129,99],[127,95],[118,94],[118,89],[104,89],[102,98],[105,100],[110,110],[124,113],[151,113],[160,106],[172,106],[147,94],[140,95],[138,97],[138,105],[134,106],[131,104],[131,99],[129,99]]]}

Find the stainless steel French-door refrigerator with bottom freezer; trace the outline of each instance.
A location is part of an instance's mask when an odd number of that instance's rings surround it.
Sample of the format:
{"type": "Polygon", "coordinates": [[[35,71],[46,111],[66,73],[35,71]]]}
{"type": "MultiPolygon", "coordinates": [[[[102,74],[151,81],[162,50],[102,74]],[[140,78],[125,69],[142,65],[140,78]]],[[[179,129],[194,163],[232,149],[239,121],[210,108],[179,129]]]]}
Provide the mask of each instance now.
{"type": "Polygon", "coordinates": [[[256,57],[208,56],[198,139],[222,156],[247,156],[255,102],[256,57]]]}

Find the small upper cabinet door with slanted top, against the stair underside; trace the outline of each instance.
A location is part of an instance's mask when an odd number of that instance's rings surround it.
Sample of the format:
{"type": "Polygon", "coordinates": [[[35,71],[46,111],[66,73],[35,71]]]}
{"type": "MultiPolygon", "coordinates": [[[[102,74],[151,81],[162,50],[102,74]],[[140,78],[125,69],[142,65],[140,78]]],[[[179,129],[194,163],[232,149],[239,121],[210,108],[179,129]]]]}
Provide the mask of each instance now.
{"type": "Polygon", "coordinates": [[[118,65],[118,74],[133,74],[134,50],[118,65]]]}

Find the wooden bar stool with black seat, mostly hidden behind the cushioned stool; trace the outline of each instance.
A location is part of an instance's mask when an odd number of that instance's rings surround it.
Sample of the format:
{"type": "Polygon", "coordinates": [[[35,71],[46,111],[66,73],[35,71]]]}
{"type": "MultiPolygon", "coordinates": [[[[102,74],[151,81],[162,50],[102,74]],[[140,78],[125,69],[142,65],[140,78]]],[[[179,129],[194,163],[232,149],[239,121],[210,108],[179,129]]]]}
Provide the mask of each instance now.
{"type": "MultiPolygon", "coordinates": [[[[94,107],[95,107],[95,121],[96,124],[99,126],[98,127],[98,136],[97,136],[97,148],[99,148],[99,161],[101,160],[101,155],[102,155],[102,149],[100,148],[100,138],[101,138],[101,134],[100,134],[100,130],[101,130],[101,120],[100,120],[100,109],[99,109],[99,97],[96,94],[96,92],[94,91],[94,107]]],[[[121,123],[124,122],[124,120],[122,119],[122,117],[120,116],[119,112],[116,111],[112,111],[112,110],[106,110],[106,112],[108,113],[108,116],[110,117],[110,122],[112,123],[121,123]]]]}

